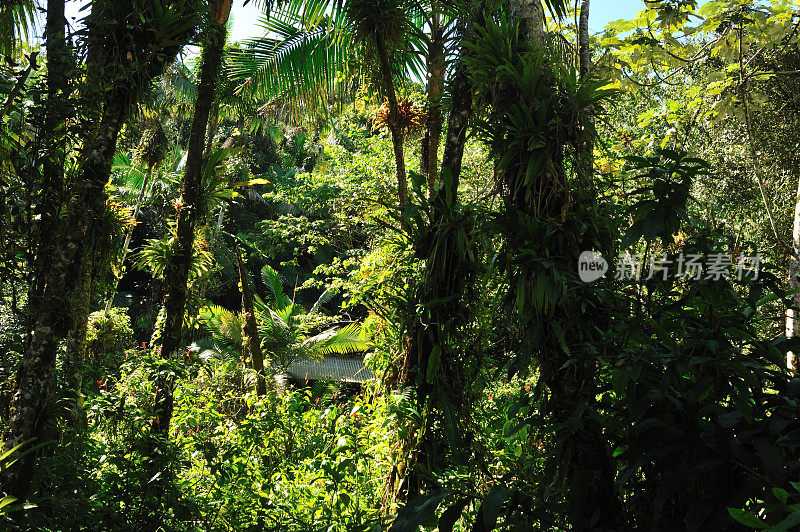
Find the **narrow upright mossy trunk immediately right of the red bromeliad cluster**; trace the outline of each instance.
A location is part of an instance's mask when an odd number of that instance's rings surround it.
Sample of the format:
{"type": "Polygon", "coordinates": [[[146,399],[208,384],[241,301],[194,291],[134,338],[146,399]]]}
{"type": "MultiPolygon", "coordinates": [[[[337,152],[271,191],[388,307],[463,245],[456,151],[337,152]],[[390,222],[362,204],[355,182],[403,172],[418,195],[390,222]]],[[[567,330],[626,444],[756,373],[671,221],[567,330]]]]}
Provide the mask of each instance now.
{"type": "Polygon", "coordinates": [[[436,180],[439,177],[439,142],[442,136],[442,95],[444,94],[444,39],[439,15],[432,15],[430,43],[428,45],[428,116],[419,159],[420,173],[427,176],[428,201],[433,201],[436,180]]]}

